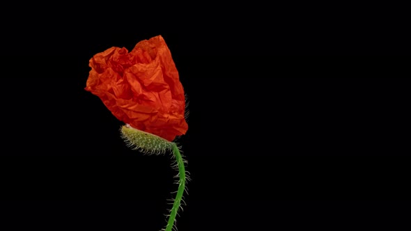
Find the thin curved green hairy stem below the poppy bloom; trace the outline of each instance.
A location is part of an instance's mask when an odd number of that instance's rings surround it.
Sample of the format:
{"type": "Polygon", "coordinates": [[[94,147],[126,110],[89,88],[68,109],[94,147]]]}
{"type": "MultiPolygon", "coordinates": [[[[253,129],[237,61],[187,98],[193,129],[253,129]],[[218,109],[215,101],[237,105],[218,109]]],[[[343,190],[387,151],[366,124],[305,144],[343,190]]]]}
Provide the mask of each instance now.
{"type": "Polygon", "coordinates": [[[173,207],[171,208],[171,214],[169,216],[169,222],[167,223],[167,226],[166,226],[166,231],[171,231],[173,228],[173,225],[176,221],[176,215],[177,215],[178,209],[180,208],[181,200],[183,198],[183,193],[185,189],[184,160],[183,160],[183,157],[181,157],[180,151],[178,150],[176,143],[173,143],[173,154],[177,161],[178,175],[180,177],[180,180],[178,182],[178,191],[176,194],[176,199],[173,202],[173,207]]]}

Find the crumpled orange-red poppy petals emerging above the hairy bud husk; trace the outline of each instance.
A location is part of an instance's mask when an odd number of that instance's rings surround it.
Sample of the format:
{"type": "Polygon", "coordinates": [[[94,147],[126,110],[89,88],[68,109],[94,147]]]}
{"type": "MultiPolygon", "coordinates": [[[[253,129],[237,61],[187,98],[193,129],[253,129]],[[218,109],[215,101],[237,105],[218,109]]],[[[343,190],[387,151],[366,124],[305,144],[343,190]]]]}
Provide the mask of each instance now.
{"type": "Polygon", "coordinates": [[[188,129],[185,95],[161,35],[128,52],[111,47],[90,59],[86,90],[100,97],[118,120],[173,141],[188,129]]]}

